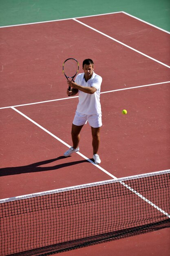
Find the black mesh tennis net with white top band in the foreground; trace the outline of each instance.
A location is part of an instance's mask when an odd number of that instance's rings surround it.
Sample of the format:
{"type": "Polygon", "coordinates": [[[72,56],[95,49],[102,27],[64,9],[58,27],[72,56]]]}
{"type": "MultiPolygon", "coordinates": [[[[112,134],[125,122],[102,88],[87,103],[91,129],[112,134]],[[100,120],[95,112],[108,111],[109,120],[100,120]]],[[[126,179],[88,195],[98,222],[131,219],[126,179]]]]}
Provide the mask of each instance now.
{"type": "Polygon", "coordinates": [[[0,200],[1,255],[50,255],[170,227],[170,170],[0,200]]]}

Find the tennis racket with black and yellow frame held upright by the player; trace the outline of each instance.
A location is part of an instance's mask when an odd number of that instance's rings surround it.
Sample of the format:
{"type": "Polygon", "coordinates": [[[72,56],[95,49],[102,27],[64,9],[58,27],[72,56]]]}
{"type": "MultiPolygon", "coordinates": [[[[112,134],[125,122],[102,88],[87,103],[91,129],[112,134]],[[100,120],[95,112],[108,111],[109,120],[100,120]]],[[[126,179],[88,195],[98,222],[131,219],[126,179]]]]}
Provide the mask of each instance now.
{"type": "MultiPolygon", "coordinates": [[[[66,79],[69,78],[73,81],[73,78],[76,76],[77,72],[79,71],[79,63],[75,58],[68,58],[64,61],[62,65],[62,71],[66,79]]],[[[71,87],[68,87],[68,90],[71,90],[71,87]]]]}

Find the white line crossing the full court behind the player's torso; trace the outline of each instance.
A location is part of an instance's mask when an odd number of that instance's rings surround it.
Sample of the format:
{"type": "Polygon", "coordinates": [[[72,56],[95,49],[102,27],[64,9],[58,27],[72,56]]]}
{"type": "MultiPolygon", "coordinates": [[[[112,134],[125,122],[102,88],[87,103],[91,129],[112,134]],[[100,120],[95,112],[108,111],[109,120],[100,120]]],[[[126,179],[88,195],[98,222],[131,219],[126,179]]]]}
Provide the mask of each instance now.
{"type": "MultiPolygon", "coordinates": [[[[118,91],[124,91],[124,90],[136,89],[136,88],[142,88],[142,87],[147,87],[147,86],[152,86],[152,85],[159,85],[159,84],[165,84],[165,83],[170,83],[170,81],[161,82],[161,83],[151,83],[151,84],[148,84],[148,85],[139,85],[139,86],[135,86],[135,87],[121,88],[121,89],[116,89],[116,90],[111,90],[111,91],[106,91],[106,92],[100,92],[100,94],[109,93],[109,92],[118,92],[118,91]]],[[[2,107],[0,109],[12,108],[12,107],[15,108],[15,107],[29,106],[29,105],[47,103],[47,102],[52,102],[52,101],[61,101],[61,100],[67,100],[67,99],[74,99],[74,98],[78,98],[78,96],[66,97],[66,98],[61,98],[61,99],[51,99],[51,100],[47,100],[47,101],[39,101],[39,102],[33,102],[33,103],[25,103],[25,104],[20,104],[20,105],[15,105],[15,106],[2,107]]]]}

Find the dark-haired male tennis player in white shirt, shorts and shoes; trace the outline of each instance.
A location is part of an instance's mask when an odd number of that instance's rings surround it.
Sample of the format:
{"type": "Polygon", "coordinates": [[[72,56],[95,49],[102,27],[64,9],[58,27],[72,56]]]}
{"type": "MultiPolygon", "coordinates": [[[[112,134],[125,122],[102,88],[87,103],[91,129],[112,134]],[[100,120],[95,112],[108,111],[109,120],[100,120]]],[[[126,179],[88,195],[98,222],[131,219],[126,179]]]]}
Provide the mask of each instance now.
{"type": "Polygon", "coordinates": [[[75,81],[67,81],[68,86],[71,86],[71,91],[67,89],[67,95],[74,96],[79,93],[79,103],[71,129],[73,146],[64,153],[64,156],[68,157],[79,151],[80,131],[88,121],[92,132],[93,159],[95,164],[100,164],[101,160],[97,153],[100,143],[100,127],[102,126],[100,104],[102,77],[95,74],[94,63],[91,59],[83,61],[83,71],[84,73],[76,76],[75,81]]]}

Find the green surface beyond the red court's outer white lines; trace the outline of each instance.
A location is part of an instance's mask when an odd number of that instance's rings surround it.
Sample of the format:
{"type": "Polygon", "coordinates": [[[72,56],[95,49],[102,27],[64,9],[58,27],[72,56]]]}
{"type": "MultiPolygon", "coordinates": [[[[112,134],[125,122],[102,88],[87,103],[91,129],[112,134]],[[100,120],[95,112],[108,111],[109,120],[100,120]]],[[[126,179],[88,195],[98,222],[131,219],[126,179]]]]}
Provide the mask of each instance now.
{"type": "Polygon", "coordinates": [[[0,0],[0,26],[126,11],[170,31],[170,0],[0,0]]]}

